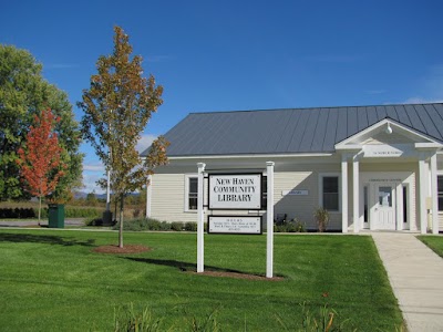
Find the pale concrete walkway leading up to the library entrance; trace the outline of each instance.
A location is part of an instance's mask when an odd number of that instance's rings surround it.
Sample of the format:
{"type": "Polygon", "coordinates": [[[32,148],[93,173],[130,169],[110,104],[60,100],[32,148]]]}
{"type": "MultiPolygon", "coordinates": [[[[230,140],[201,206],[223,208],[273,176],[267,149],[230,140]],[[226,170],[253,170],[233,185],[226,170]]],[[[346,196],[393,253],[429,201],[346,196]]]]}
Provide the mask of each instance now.
{"type": "Polygon", "coordinates": [[[443,258],[415,235],[373,232],[410,332],[443,331],[443,258]]]}

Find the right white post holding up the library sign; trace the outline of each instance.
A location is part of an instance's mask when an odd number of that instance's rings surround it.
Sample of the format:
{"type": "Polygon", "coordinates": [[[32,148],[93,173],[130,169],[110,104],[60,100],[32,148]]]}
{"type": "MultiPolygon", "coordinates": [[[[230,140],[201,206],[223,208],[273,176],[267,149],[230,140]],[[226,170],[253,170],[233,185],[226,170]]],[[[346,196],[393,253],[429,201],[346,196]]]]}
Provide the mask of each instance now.
{"type": "Polygon", "coordinates": [[[266,231],[266,278],[274,276],[274,162],[266,163],[268,177],[267,231],[266,231]]]}

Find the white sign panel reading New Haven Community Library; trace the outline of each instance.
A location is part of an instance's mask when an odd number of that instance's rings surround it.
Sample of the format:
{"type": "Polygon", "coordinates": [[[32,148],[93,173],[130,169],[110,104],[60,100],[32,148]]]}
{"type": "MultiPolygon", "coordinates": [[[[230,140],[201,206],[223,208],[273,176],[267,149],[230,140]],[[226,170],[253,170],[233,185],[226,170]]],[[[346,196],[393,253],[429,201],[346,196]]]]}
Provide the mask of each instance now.
{"type": "Polygon", "coordinates": [[[209,175],[209,209],[260,210],[261,174],[209,175]]]}

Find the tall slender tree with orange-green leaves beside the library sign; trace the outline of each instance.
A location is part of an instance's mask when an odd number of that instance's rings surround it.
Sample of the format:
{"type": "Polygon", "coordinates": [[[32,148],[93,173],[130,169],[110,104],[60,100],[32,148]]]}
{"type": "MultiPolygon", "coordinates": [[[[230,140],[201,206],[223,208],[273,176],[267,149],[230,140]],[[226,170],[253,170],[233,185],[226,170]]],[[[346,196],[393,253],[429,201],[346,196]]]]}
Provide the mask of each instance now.
{"type": "Polygon", "coordinates": [[[131,59],[132,46],[123,29],[115,27],[114,33],[113,53],[99,58],[97,73],[78,105],[84,111],[83,137],[111,172],[111,189],[120,200],[119,247],[123,248],[124,197],[141,189],[155,167],[167,163],[168,144],[158,137],[145,160],[135,148],[152,113],[163,103],[163,87],[153,75],[143,76],[142,56],[131,59]]]}

